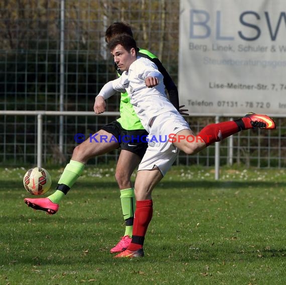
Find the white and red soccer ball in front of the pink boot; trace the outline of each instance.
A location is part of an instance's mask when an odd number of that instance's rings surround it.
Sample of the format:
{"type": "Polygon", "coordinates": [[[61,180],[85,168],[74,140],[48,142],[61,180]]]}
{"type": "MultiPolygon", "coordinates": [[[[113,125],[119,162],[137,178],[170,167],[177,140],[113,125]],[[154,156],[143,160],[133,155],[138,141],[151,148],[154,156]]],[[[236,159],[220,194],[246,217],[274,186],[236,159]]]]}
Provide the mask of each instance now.
{"type": "Polygon", "coordinates": [[[52,179],[47,170],[35,167],[26,172],[23,183],[25,189],[32,195],[43,195],[50,189],[52,179]]]}

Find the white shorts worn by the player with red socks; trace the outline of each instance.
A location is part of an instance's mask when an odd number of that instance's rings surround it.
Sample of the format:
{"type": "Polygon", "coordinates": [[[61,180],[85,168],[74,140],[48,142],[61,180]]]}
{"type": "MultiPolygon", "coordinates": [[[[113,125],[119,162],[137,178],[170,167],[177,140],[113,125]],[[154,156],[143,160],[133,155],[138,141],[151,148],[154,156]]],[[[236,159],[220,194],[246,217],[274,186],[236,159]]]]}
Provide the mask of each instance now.
{"type": "Polygon", "coordinates": [[[190,126],[179,113],[169,111],[158,115],[147,137],[148,148],[138,171],[158,167],[165,176],[179,154],[172,144],[172,137],[183,129],[190,129],[190,126]]]}

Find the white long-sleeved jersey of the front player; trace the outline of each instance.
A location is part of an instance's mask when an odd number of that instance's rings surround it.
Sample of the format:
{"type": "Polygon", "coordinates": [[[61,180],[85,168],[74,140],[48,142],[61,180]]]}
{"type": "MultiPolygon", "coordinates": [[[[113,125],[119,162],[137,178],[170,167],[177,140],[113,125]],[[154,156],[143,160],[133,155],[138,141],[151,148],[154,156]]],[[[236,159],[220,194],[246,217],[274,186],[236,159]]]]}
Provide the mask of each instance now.
{"type": "Polygon", "coordinates": [[[179,113],[165,94],[163,75],[156,64],[147,58],[137,58],[128,71],[124,71],[119,78],[111,82],[112,86],[110,83],[105,84],[98,95],[107,99],[113,95],[113,90],[126,90],[136,115],[147,131],[150,131],[150,121],[154,117],[169,111],[179,113]],[[159,84],[148,88],[145,79],[149,76],[157,77],[159,84]]]}

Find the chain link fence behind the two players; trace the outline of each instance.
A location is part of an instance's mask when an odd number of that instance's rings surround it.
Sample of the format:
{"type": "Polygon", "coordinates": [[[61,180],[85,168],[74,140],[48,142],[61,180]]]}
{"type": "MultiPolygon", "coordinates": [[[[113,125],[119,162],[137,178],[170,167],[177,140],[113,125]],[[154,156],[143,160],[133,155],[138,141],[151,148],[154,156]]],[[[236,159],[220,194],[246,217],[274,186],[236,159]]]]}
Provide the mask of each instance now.
{"type": "MultiPolygon", "coordinates": [[[[92,111],[94,96],[115,78],[104,32],[127,22],[137,45],[156,54],[178,83],[179,1],[171,0],[4,0],[0,3],[0,161],[36,164],[37,117],[4,115],[1,110],[74,111],[44,116],[45,164],[68,161],[76,133],[89,134],[116,117],[77,116],[92,111]],[[63,148],[59,141],[63,138],[63,148]]],[[[195,68],[195,67],[190,67],[195,68]]],[[[107,103],[118,111],[119,96],[107,103]]],[[[190,110],[192,113],[192,110],[190,110]]],[[[199,131],[214,117],[187,117],[199,131]]],[[[284,120],[274,131],[251,130],[221,143],[220,163],[285,167],[284,120]]],[[[89,163],[114,162],[119,151],[89,163]]],[[[177,164],[214,165],[214,147],[195,157],[180,154],[177,164]]]]}

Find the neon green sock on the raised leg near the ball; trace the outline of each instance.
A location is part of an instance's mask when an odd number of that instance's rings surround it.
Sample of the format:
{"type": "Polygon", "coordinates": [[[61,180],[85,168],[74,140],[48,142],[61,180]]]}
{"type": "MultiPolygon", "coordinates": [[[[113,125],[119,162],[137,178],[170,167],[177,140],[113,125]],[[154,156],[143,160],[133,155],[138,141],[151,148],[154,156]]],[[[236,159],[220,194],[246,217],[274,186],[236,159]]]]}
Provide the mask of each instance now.
{"type": "Polygon", "coordinates": [[[48,198],[56,204],[65,197],[76,180],[80,177],[85,165],[81,162],[71,160],[64,169],[64,172],[58,182],[57,190],[48,198]]]}

